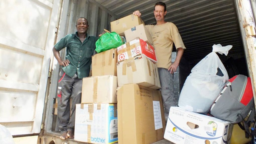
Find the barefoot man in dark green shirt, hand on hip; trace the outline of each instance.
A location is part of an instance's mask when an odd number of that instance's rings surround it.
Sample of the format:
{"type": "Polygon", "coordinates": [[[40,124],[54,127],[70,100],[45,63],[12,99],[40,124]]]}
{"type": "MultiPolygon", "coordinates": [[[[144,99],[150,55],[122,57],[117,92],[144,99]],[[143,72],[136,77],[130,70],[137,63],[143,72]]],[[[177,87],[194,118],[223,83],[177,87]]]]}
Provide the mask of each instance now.
{"type": "Polygon", "coordinates": [[[77,32],[66,35],[52,49],[54,57],[62,67],[58,81],[58,126],[61,139],[74,137],[76,104],[81,103],[82,79],[88,77],[97,38],[88,36],[88,21],[80,17],[77,32]],[[66,60],[60,58],[59,51],[67,47],[66,60]],[[69,99],[72,97],[71,115],[69,99]]]}

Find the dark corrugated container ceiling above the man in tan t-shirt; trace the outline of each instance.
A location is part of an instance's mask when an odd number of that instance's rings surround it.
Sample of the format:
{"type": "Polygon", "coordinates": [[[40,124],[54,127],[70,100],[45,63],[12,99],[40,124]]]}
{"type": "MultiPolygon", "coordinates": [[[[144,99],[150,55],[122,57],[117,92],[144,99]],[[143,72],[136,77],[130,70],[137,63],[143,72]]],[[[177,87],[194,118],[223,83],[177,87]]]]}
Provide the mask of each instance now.
{"type": "MultiPolygon", "coordinates": [[[[121,17],[140,10],[146,25],[156,24],[153,0],[95,0],[121,17]]],[[[212,51],[212,45],[233,45],[229,55],[244,55],[240,27],[233,0],[165,0],[165,21],[174,23],[186,46],[184,57],[198,60],[212,51]]]]}

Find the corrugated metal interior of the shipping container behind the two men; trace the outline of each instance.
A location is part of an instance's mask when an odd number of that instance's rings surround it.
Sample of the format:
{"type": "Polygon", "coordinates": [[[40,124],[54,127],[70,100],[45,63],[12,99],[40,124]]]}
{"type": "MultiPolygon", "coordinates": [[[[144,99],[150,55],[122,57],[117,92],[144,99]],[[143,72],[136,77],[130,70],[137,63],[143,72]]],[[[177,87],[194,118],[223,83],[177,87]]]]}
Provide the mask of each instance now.
{"type": "MultiPolygon", "coordinates": [[[[67,13],[61,17],[65,23],[65,31],[57,39],[66,34],[76,32],[76,20],[85,17],[89,22],[88,34],[98,36],[103,29],[110,30],[110,22],[140,10],[142,20],[146,25],[155,25],[153,11],[155,0],[70,0],[65,2],[67,13]],[[67,5],[68,3],[68,5],[67,5]],[[65,18],[64,18],[65,17],[65,18]]],[[[180,74],[184,77],[190,73],[202,58],[212,52],[212,45],[232,45],[228,56],[218,54],[225,65],[229,77],[237,74],[248,76],[246,56],[241,38],[239,19],[234,0],[164,0],[167,5],[165,21],[174,23],[183,39],[186,50],[180,63],[180,74]]],[[[175,49],[174,49],[175,51],[175,49]]],[[[62,57],[65,50],[62,50],[62,57]]],[[[58,68],[58,67],[56,67],[58,68]]],[[[55,69],[54,71],[59,71],[55,69]]],[[[185,81],[185,78],[182,82],[185,81]]],[[[57,83],[52,81],[51,83],[57,83]]],[[[52,91],[56,91],[53,88],[52,91]]],[[[48,97],[48,105],[55,103],[56,95],[48,97]]],[[[58,132],[57,116],[54,108],[49,107],[46,113],[48,123],[47,133],[58,132]]]]}

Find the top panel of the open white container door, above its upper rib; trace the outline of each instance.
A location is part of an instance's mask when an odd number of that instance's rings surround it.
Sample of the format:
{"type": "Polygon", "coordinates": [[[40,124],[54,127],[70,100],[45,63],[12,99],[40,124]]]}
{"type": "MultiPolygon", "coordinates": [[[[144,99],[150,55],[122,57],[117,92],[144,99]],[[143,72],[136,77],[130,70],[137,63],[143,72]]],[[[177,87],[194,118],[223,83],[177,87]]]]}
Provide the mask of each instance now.
{"type": "Polygon", "coordinates": [[[14,47],[28,45],[25,50],[45,49],[51,9],[29,0],[8,0],[1,1],[0,14],[2,38],[15,41],[14,47]]]}

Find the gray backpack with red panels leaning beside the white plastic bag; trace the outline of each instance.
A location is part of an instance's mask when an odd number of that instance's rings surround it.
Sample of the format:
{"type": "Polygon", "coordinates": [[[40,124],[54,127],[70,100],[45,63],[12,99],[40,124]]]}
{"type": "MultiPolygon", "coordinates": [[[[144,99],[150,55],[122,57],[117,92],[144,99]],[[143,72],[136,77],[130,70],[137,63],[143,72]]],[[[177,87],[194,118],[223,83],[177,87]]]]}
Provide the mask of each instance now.
{"type": "Polygon", "coordinates": [[[246,131],[246,137],[251,135],[249,127],[255,123],[255,107],[250,77],[239,74],[229,79],[212,104],[210,114],[230,123],[238,123],[246,131]]]}

